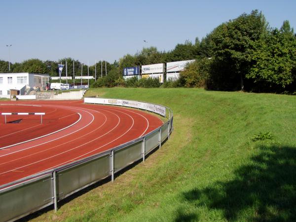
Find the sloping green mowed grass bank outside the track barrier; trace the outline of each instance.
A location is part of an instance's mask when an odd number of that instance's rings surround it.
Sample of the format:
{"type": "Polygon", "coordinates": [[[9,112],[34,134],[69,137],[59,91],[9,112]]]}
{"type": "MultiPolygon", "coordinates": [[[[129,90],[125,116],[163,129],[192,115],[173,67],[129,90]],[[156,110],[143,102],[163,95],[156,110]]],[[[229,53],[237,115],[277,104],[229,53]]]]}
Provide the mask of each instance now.
{"type": "Polygon", "coordinates": [[[203,89],[93,89],[174,112],[171,139],[114,183],[33,221],[296,221],[296,97],[203,89]],[[255,135],[271,138],[254,142],[255,135]]]}

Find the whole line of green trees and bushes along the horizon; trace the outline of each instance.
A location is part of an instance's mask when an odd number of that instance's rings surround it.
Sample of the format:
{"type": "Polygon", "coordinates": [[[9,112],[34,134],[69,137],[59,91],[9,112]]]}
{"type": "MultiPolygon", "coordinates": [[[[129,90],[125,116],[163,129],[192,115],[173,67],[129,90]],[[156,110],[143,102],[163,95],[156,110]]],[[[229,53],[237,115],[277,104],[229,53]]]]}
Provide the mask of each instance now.
{"type": "MultiPolygon", "coordinates": [[[[296,92],[296,34],[289,21],[281,28],[271,28],[258,10],[243,13],[222,23],[201,40],[185,40],[173,50],[158,51],[156,47],[143,48],[134,55],[126,54],[113,64],[103,62],[103,78],[93,87],[100,86],[159,86],[151,80],[124,80],[125,67],[142,66],[195,59],[181,72],[177,81],[165,81],[164,87],[204,87],[210,90],[242,90],[249,92],[296,92]],[[140,81],[140,82],[137,82],[140,81]],[[153,82],[146,84],[145,82],[153,82]]],[[[68,74],[81,72],[81,63],[72,58],[59,61],[31,59],[11,64],[11,71],[48,73],[58,76],[58,64],[68,63],[68,74]]],[[[0,61],[0,72],[8,72],[6,61],[0,61]]],[[[97,77],[101,77],[101,61],[96,64],[97,77]]],[[[87,66],[82,66],[83,75],[87,66]]],[[[64,73],[64,71],[63,71],[64,73]]],[[[89,67],[95,75],[95,65],[89,67]]],[[[65,73],[63,74],[65,75],[65,73]]]]}

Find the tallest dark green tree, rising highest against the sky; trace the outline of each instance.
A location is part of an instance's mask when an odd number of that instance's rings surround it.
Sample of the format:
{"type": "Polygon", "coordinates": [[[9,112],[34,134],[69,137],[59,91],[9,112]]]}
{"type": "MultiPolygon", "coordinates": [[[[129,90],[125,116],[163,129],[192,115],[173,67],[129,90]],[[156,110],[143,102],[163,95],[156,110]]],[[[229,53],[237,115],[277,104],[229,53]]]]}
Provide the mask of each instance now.
{"type": "Polygon", "coordinates": [[[244,90],[245,75],[251,63],[250,49],[265,32],[266,24],[258,10],[242,14],[218,26],[208,35],[211,66],[210,88],[218,90],[244,90]]]}

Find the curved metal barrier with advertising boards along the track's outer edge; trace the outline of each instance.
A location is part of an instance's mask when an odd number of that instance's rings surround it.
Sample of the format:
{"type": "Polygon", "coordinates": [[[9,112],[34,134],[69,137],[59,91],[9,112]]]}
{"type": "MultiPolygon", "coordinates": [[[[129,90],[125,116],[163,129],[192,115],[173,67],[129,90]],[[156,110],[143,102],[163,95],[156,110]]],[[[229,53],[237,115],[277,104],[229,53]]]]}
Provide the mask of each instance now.
{"type": "Polygon", "coordinates": [[[0,186],[0,222],[15,221],[111,176],[145,155],[169,138],[173,130],[173,112],[160,105],[138,101],[85,98],[85,103],[109,104],[152,111],[168,120],[147,135],[73,163],[41,172],[0,186]],[[107,102],[106,102],[107,101],[107,102]],[[116,104],[114,103],[116,101],[116,104]],[[111,104],[109,102],[112,102],[111,104]]]}

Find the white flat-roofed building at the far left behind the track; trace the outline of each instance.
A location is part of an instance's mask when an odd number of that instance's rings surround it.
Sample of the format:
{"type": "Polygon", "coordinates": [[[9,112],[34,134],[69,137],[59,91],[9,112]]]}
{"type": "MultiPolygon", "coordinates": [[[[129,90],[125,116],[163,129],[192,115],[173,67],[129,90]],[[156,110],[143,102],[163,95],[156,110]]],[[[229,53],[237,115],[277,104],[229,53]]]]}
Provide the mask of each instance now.
{"type": "Polygon", "coordinates": [[[10,90],[17,90],[19,95],[38,87],[43,90],[46,83],[49,83],[48,74],[0,73],[0,98],[10,98],[10,90]]]}

